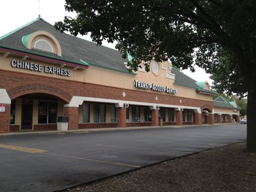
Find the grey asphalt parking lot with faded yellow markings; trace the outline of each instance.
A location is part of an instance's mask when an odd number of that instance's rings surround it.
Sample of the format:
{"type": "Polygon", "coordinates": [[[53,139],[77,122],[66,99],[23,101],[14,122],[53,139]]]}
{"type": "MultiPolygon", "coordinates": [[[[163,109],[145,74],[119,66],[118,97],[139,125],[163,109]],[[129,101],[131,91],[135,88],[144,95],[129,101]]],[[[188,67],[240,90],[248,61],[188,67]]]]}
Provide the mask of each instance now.
{"type": "Polygon", "coordinates": [[[246,140],[227,124],[0,137],[0,191],[54,191],[246,140]]]}

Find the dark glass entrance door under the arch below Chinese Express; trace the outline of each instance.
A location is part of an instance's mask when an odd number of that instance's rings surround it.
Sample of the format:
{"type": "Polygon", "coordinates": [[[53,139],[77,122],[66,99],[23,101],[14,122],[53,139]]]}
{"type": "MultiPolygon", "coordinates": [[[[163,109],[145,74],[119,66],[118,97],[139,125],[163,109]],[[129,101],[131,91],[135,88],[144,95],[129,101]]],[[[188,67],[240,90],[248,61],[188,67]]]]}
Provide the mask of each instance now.
{"type": "Polygon", "coordinates": [[[22,104],[22,130],[32,130],[33,104],[22,104]]]}

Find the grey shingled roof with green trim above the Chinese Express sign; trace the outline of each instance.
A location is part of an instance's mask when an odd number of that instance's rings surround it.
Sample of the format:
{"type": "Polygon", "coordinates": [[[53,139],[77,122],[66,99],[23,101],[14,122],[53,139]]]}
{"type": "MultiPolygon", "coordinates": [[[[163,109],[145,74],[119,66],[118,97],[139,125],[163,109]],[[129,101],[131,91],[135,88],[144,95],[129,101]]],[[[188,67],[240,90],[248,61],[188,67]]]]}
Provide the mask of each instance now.
{"type": "Polygon", "coordinates": [[[61,33],[40,17],[33,20],[33,22],[0,37],[0,47],[44,55],[46,57],[54,57],[60,60],[68,60],[79,63],[80,65],[85,65],[84,62],[80,61],[83,60],[92,66],[102,66],[119,72],[129,73],[123,64],[124,62],[127,62],[128,59],[123,59],[119,51],[104,46],[97,46],[94,42],[66,33],[61,33]],[[25,37],[39,30],[51,33],[58,40],[62,51],[62,57],[53,53],[26,48],[24,45],[24,42],[26,44],[25,37]]]}

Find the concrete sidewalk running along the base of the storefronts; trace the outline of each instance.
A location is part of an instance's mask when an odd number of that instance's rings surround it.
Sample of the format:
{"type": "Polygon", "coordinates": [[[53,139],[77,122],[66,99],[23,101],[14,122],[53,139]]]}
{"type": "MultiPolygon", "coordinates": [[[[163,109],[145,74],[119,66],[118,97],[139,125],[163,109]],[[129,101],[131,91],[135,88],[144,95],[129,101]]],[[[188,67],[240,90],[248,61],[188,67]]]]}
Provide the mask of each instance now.
{"type": "MultiPolygon", "coordinates": [[[[201,124],[200,126],[219,126],[219,125],[231,125],[231,124],[240,124],[240,123],[215,123],[215,124],[201,124]]],[[[102,131],[122,131],[122,130],[142,130],[142,129],[177,129],[182,127],[193,127],[198,126],[194,125],[172,125],[172,126],[132,126],[132,127],[107,127],[107,128],[91,128],[91,129],[79,129],[79,130],[68,130],[68,131],[19,131],[19,132],[10,132],[10,133],[0,133],[2,136],[13,136],[13,135],[40,135],[40,134],[61,134],[61,133],[79,133],[79,132],[102,132],[102,131]]]]}

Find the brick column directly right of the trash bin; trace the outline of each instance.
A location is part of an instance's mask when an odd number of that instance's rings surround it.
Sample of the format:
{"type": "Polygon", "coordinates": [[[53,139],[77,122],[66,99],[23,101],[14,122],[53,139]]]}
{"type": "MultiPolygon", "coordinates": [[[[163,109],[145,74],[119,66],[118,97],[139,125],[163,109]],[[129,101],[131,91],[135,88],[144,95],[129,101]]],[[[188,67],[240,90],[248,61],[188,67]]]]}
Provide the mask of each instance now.
{"type": "Polygon", "coordinates": [[[64,107],[64,116],[69,118],[68,130],[78,130],[78,111],[79,108],[74,106],[64,107]]]}

